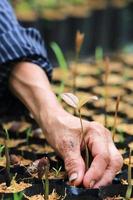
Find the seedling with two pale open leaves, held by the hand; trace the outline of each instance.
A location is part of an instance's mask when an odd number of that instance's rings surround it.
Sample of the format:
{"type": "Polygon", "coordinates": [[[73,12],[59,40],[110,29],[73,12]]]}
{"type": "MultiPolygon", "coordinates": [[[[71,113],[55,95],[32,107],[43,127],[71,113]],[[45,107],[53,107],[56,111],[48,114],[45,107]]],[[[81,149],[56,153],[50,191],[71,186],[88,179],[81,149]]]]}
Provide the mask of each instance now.
{"type": "Polygon", "coordinates": [[[85,143],[85,132],[84,132],[84,127],[83,127],[83,122],[82,122],[82,116],[81,116],[81,108],[85,106],[86,103],[89,101],[93,100],[98,100],[96,96],[92,97],[86,97],[86,98],[81,98],[79,99],[77,96],[75,96],[72,93],[63,93],[61,94],[61,98],[71,107],[73,107],[80,118],[80,125],[81,125],[81,141],[85,144],[85,154],[86,154],[86,159],[85,159],[85,165],[86,165],[86,170],[89,168],[89,151],[87,144],[85,143]]]}

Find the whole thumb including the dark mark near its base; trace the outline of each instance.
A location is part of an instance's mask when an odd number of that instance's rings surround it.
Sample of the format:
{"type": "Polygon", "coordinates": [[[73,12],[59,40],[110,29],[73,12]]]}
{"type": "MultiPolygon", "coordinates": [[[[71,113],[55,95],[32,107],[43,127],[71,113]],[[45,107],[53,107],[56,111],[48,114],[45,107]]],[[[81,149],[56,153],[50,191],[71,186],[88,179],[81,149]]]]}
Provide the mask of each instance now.
{"type": "Polygon", "coordinates": [[[85,173],[85,164],[80,154],[80,139],[75,140],[69,136],[62,138],[62,141],[58,149],[64,159],[69,181],[77,186],[83,181],[85,173]]]}

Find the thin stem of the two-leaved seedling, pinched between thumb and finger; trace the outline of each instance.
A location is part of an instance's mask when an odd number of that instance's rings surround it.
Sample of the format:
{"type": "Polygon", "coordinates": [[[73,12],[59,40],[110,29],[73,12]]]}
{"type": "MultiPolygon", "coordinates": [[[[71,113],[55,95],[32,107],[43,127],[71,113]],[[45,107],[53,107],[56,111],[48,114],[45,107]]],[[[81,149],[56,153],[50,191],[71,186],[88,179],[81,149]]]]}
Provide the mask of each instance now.
{"type": "Polygon", "coordinates": [[[86,170],[87,170],[89,168],[89,150],[88,150],[87,144],[85,143],[85,139],[84,139],[85,133],[84,133],[84,129],[83,129],[81,109],[78,109],[78,113],[79,113],[80,124],[81,124],[82,141],[85,144],[85,166],[86,166],[86,170]]]}

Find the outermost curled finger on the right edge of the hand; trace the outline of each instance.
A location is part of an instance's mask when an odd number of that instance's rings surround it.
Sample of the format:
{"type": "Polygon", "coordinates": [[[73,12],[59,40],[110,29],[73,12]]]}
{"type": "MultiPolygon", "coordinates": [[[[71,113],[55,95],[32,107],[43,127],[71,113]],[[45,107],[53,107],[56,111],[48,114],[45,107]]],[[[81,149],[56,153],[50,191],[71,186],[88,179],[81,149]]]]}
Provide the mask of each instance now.
{"type": "Polygon", "coordinates": [[[114,179],[116,173],[120,171],[123,165],[123,158],[113,143],[110,143],[109,151],[110,151],[110,165],[103,174],[101,180],[94,185],[94,188],[99,188],[101,186],[110,184],[114,179]]]}

